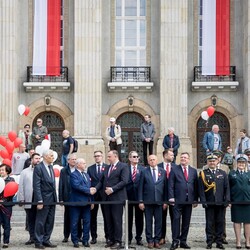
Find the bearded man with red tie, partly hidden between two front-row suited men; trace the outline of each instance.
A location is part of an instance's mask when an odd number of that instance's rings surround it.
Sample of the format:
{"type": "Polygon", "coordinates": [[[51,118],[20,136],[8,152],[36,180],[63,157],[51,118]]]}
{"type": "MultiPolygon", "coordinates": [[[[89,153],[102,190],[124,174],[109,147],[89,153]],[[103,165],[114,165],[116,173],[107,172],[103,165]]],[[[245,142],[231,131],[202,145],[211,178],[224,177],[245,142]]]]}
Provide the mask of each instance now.
{"type": "MultiPolygon", "coordinates": [[[[176,164],[173,163],[174,160],[174,153],[172,149],[165,149],[162,152],[163,162],[158,164],[159,168],[163,168],[166,171],[167,180],[169,179],[169,175],[171,172],[172,167],[175,167],[176,164]]],[[[167,188],[168,190],[168,188],[167,188]]],[[[160,245],[164,245],[166,243],[165,237],[167,233],[167,214],[169,208],[169,216],[171,220],[171,228],[173,225],[173,206],[169,206],[166,209],[162,210],[162,227],[161,227],[161,240],[159,242],[160,245]]]]}

